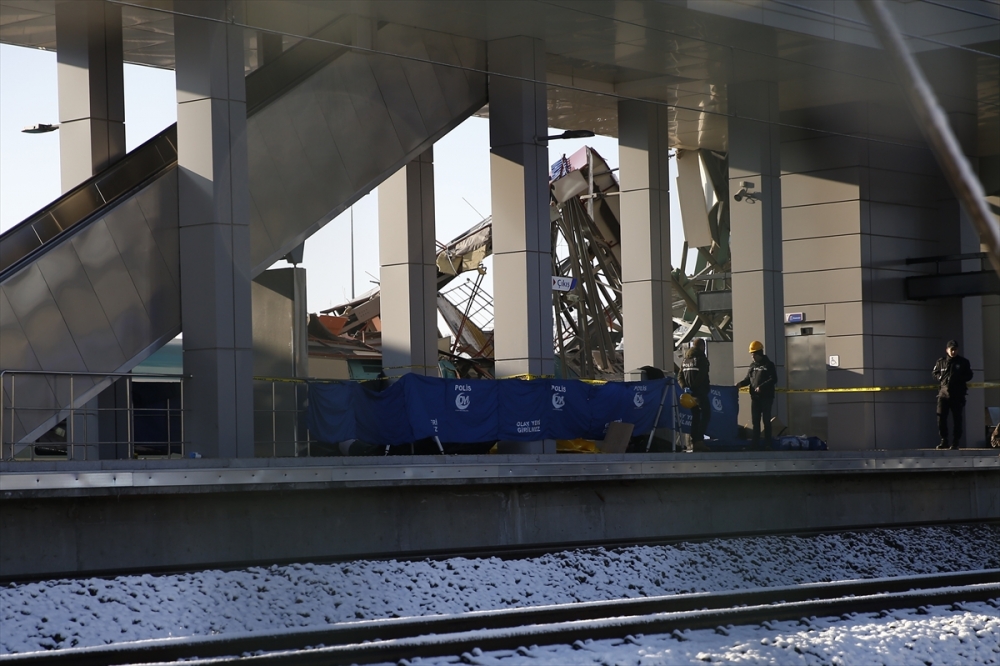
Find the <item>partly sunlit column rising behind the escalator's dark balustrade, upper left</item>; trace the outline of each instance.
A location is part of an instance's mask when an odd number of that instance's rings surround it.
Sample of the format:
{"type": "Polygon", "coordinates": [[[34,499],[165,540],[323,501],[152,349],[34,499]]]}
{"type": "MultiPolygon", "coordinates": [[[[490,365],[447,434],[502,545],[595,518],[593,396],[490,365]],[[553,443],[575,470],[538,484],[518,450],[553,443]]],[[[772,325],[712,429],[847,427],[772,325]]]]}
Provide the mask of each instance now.
{"type": "Polygon", "coordinates": [[[67,192],[125,155],[121,6],[103,0],[57,4],[56,60],[67,192]]]}

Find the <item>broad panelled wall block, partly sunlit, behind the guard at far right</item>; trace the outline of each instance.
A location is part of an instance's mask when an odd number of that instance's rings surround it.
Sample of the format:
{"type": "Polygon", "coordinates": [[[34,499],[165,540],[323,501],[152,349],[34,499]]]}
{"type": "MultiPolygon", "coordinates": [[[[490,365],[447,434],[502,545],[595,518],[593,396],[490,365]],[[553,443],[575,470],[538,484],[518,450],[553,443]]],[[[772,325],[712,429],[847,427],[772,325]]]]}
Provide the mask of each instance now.
{"type": "MultiPolygon", "coordinates": [[[[782,144],[785,307],[824,323],[826,386],[933,384],[962,304],[908,300],[905,279],[934,266],[906,260],[959,252],[959,214],[912,115],[858,102],[783,118],[830,132],[788,129],[782,144]]],[[[934,406],[934,391],[830,394],[830,447],[933,447],[934,406]]]]}

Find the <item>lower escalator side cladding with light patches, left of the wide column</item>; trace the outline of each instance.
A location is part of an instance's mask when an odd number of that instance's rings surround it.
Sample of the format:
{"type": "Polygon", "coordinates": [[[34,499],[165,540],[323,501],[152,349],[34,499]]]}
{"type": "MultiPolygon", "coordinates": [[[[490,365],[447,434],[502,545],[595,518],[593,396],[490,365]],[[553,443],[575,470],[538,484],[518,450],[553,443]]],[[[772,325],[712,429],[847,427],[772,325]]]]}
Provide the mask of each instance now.
{"type": "MultiPolygon", "coordinates": [[[[176,336],[176,205],[157,203],[176,199],[170,170],[9,275],[0,284],[2,367],[124,372],[176,336]],[[145,215],[140,201],[156,214],[145,215]],[[158,245],[157,235],[167,242],[158,245]]],[[[108,383],[85,375],[72,384],[67,377],[17,376],[15,440],[37,437],[65,418],[68,405],[79,407],[108,383]]],[[[5,421],[8,442],[9,427],[5,421]]]]}

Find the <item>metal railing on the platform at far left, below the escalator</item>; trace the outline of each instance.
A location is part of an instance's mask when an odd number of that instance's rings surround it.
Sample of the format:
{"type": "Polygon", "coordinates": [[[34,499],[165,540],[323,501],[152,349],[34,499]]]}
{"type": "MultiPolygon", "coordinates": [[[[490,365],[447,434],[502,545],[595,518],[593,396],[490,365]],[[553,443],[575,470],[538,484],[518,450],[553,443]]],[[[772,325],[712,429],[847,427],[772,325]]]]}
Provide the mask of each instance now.
{"type": "Polygon", "coordinates": [[[183,457],[182,379],[151,373],[0,371],[0,459],[183,457]]]}

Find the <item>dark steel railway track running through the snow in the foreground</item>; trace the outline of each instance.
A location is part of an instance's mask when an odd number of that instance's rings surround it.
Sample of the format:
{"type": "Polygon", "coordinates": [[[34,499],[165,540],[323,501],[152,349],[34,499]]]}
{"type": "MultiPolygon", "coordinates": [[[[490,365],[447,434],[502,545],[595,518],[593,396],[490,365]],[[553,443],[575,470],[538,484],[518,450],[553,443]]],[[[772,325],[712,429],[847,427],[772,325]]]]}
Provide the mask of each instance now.
{"type": "Polygon", "coordinates": [[[368,620],[275,634],[159,639],[4,655],[0,664],[88,666],[179,659],[254,665],[395,662],[458,655],[477,647],[572,644],[588,638],[990,599],[1000,599],[1000,569],[368,620]]]}

